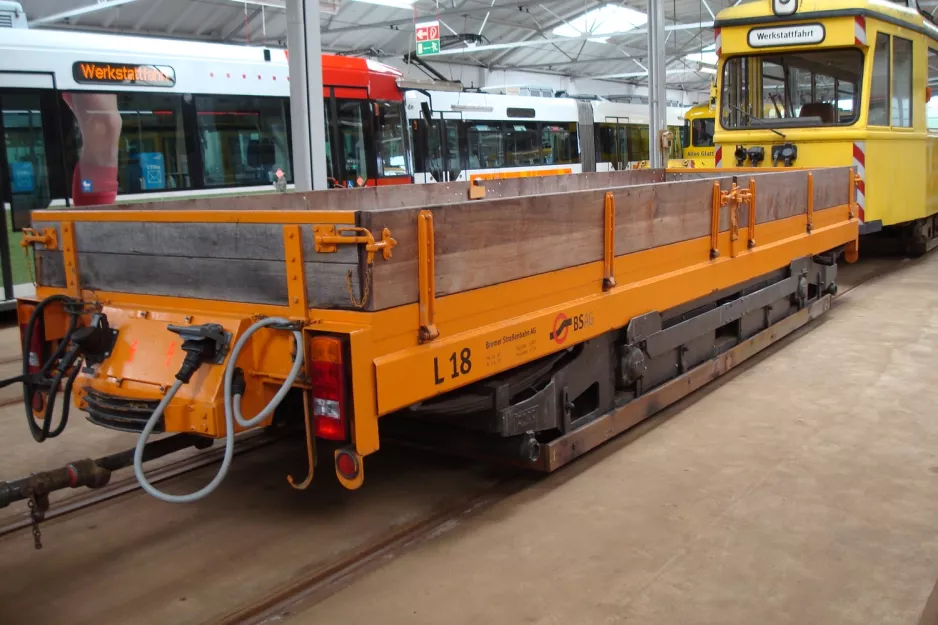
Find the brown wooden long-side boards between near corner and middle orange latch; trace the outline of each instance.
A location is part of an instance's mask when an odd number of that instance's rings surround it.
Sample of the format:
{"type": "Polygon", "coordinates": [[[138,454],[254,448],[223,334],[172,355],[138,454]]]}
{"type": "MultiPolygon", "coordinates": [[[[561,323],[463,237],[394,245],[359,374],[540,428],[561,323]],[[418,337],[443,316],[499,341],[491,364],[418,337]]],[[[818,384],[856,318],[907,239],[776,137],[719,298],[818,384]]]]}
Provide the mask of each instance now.
{"type": "MultiPolygon", "coordinates": [[[[718,181],[729,188],[731,178],[718,181]]],[[[616,202],[617,255],[706,236],[712,189],[713,180],[699,180],[431,207],[437,296],[599,260],[607,191],[616,202]]],[[[378,232],[387,227],[398,241],[390,260],[375,262],[375,310],[417,299],[419,212],[412,208],[361,214],[366,228],[378,232]]],[[[728,229],[728,212],[721,221],[722,229],[728,229]]]]}

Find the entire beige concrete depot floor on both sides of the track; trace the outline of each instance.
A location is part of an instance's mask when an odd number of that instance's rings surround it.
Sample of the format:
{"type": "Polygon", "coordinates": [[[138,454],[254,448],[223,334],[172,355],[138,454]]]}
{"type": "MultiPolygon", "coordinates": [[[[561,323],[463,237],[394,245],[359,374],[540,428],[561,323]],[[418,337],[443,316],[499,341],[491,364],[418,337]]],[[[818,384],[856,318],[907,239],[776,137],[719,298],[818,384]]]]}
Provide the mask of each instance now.
{"type": "MultiPolygon", "coordinates": [[[[282,620],[916,623],[938,576],[936,270],[933,253],[861,285],[753,366],[282,620]]],[[[0,479],[135,442],[79,413],[36,445],[21,410],[0,408],[0,479]]],[[[297,494],[283,475],[302,450],[260,453],[199,504],[118,500],[45,524],[39,553],[0,539],[0,624],[213,622],[491,477],[394,453],[359,492],[297,494]]]]}

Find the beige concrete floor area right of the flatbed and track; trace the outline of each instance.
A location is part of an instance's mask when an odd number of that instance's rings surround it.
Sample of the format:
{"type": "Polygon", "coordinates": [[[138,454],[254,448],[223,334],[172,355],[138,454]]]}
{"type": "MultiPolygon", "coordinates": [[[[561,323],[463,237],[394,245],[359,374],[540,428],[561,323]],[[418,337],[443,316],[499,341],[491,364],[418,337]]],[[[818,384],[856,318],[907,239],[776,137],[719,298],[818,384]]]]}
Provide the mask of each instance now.
{"type": "Polygon", "coordinates": [[[290,622],[915,623],[938,574],[938,254],[290,622]]]}

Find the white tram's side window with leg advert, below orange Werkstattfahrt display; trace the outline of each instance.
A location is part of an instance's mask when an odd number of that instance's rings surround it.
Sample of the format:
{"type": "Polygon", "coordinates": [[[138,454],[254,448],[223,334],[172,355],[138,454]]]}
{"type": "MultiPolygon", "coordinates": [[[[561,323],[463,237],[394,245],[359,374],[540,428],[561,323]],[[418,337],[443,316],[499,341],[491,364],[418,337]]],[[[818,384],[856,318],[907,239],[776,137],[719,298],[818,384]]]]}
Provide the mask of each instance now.
{"type": "Polygon", "coordinates": [[[73,145],[79,152],[69,156],[80,162],[74,193],[113,190],[113,178],[105,180],[103,171],[107,163],[115,163],[115,152],[117,193],[192,187],[182,97],[83,91],[65,95],[75,118],[73,145]]]}

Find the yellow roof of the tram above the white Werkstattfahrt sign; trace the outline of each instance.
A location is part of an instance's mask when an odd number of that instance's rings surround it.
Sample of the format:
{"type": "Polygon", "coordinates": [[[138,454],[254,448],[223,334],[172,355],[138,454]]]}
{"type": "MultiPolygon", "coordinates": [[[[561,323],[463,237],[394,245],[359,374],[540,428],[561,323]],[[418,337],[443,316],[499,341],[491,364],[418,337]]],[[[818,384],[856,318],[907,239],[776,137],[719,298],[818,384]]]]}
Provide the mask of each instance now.
{"type": "Polygon", "coordinates": [[[925,23],[931,27],[929,30],[933,35],[938,34],[938,29],[915,9],[884,0],[798,0],[798,11],[795,15],[785,17],[773,13],[772,0],[757,0],[723,9],[717,13],[715,26],[719,28],[734,26],[737,23],[742,25],[760,21],[778,22],[846,15],[865,15],[873,18],[880,15],[890,21],[898,20],[917,26],[925,23]]]}

